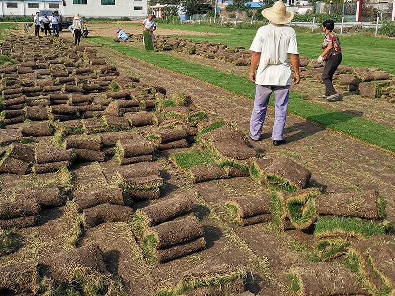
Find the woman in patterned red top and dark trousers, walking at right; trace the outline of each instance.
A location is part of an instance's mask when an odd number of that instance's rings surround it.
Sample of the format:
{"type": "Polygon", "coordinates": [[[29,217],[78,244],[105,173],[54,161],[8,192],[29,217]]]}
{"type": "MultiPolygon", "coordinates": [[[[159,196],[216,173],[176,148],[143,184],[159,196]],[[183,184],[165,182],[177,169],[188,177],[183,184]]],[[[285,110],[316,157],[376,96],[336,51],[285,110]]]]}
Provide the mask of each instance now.
{"type": "Polygon", "coordinates": [[[322,30],[325,33],[325,37],[322,42],[322,53],[317,59],[317,62],[320,64],[325,61],[325,68],[322,72],[325,94],[319,97],[327,101],[335,101],[335,99],[339,98],[339,94],[333,87],[332,79],[337,67],[342,62],[342,49],[340,48],[339,37],[332,31],[334,28],[335,23],[332,20],[326,20],[322,23],[322,30]]]}

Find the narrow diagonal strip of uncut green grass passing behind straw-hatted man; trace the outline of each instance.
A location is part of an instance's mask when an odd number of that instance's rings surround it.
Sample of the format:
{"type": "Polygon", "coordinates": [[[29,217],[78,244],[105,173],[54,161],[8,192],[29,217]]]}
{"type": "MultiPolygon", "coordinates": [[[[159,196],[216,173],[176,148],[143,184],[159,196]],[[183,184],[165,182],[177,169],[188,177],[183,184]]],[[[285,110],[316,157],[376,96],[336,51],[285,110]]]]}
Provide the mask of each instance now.
{"type": "MultiPolygon", "coordinates": [[[[177,73],[205,81],[250,99],[255,96],[255,84],[237,75],[227,74],[209,67],[200,66],[185,60],[168,56],[160,52],[147,52],[124,44],[113,42],[106,37],[90,37],[90,41],[101,44],[123,54],[138,58],[148,63],[172,70],[177,73]]],[[[288,111],[307,121],[317,123],[331,130],[349,135],[353,138],[395,151],[395,129],[379,123],[333,111],[314,103],[305,101],[301,95],[290,93],[288,111]]],[[[269,102],[273,106],[273,100],[269,102]]]]}

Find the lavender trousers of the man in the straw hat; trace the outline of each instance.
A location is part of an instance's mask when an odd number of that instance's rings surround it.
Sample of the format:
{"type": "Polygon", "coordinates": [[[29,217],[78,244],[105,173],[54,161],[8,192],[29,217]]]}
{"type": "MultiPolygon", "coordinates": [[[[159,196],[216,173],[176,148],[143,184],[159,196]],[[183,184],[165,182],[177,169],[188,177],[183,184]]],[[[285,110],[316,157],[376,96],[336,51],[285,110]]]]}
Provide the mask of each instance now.
{"type": "Polygon", "coordinates": [[[272,92],[275,94],[275,120],[273,123],[272,140],[284,139],[285,120],[287,118],[287,106],[289,99],[289,87],[256,85],[254,108],[250,120],[250,137],[258,140],[262,133],[265,121],[266,109],[272,92]]]}

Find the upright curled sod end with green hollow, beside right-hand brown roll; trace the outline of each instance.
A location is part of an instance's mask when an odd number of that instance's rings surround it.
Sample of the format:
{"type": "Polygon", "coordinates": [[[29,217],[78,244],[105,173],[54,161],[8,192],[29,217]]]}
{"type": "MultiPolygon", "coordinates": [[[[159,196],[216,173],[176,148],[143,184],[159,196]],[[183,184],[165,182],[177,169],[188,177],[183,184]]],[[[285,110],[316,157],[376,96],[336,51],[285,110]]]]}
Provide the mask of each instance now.
{"type": "Polygon", "coordinates": [[[316,221],[318,215],[314,202],[319,193],[319,188],[307,188],[287,195],[285,206],[289,220],[296,229],[307,229],[316,221]]]}

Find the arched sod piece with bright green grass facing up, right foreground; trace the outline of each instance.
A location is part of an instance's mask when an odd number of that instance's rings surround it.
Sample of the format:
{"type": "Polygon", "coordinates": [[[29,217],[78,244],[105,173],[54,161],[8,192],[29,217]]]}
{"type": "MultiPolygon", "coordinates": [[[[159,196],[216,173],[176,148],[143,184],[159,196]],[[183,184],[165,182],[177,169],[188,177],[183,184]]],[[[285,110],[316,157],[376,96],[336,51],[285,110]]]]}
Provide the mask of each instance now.
{"type": "Polygon", "coordinates": [[[343,216],[319,217],[314,229],[315,238],[347,236],[366,239],[385,233],[386,226],[383,223],[343,216]]]}

